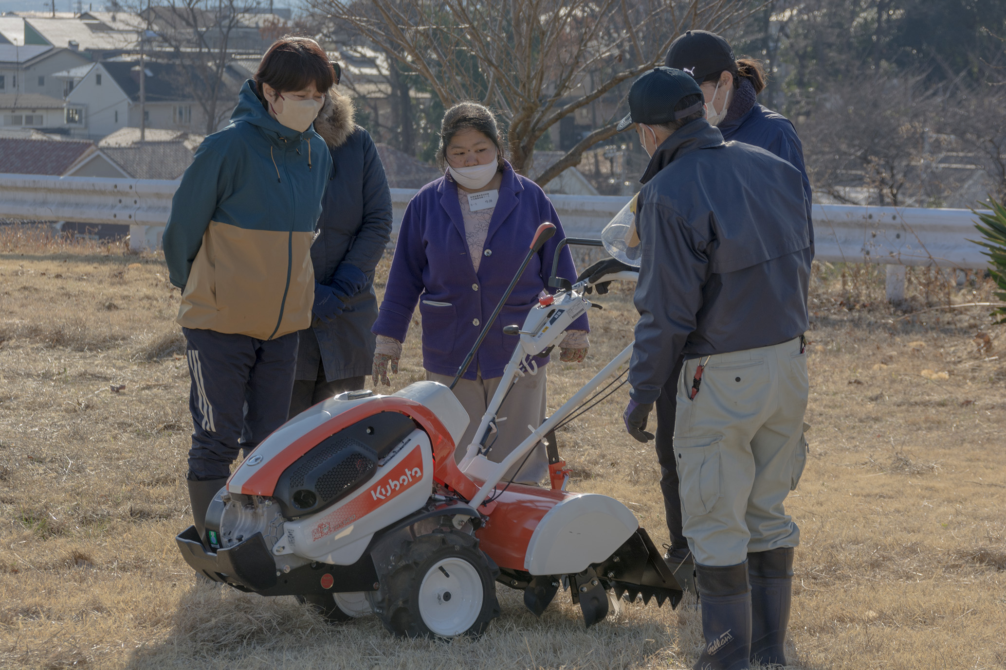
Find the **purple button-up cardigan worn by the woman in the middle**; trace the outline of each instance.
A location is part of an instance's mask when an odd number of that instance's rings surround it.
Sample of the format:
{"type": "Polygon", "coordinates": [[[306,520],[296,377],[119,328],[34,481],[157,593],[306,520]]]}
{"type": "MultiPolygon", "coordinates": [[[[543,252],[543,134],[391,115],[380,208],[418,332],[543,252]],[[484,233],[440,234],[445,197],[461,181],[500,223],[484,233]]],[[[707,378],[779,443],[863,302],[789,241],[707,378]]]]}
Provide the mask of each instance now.
{"type": "MultiPolygon", "coordinates": [[[[520,267],[534,231],[545,221],[555,224],[555,235],[531,259],[486,333],[475,360],[465,371],[468,380],[474,380],[477,372],[484,379],[502,377],[519,342],[518,336],[503,334],[503,326],[523,325],[538,293],[548,285],[555,246],[565,237],[555,209],[541,188],[514,173],[509,163],[503,170],[499,200],[489,223],[478,273],[469,257],[454,180],[441,177],[424,186],[409,201],[398,232],[384,301],[371,330],[403,342],[412,310],[422,298],[423,367],[439,375],[457,374],[475,345],[484,319],[492,315],[520,267]]],[[[559,255],[558,276],[576,280],[568,248],[559,255]]],[[[573,321],[569,329],[589,329],[586,314],[573,321]]],[[[537,361],[539,366],[545,363],[537,361]]]]}

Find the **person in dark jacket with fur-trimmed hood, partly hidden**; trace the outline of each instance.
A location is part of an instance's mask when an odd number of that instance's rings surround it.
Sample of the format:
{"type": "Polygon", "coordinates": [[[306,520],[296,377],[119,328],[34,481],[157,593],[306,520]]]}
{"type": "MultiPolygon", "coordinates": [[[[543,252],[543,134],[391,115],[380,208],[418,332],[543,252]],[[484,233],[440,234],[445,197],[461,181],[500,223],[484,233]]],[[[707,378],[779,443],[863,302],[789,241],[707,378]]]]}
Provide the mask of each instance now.
{"type": "Polygon", "coordinates": [[[334,173],[311,246],[317,282],[313,318],[311,327],[301,330],[291,418],[326,398],[363,388],[374,355],[374,268],[391,236],[384,167],[370,135],[353,123],[352,100],[332,86],[314,128],[328,145],[334,173]]]}

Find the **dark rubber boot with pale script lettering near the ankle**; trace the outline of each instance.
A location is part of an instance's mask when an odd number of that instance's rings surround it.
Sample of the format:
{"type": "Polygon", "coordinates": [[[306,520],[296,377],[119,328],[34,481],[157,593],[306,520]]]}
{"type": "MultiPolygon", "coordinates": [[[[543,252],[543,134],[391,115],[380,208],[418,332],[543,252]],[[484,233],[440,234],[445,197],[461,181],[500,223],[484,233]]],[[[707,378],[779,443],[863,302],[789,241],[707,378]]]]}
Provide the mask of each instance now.
{"type": "Polygon", "coordinates": [[[702,601],[705,649],[694,670],[744,670],[751,647],[751,594],[747,562],[736,566],[695,564],[702,601]]]}

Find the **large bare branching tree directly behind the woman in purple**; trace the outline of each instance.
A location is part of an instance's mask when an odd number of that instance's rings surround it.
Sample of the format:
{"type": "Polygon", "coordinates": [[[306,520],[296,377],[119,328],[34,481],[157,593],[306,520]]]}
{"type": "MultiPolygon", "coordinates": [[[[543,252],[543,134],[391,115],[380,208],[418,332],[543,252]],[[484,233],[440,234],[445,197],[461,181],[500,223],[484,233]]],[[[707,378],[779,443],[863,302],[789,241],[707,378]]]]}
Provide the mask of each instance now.
{"type": "Polygon", "coordinates": [[[615,95],[602,128],[538,178],[546,184],[615,135],[627,83],[663,61],[689,28],[730,33],[764,6],[737,0],[310,0],[351,25],[402,71],[429,83],[445,106],[478,99],[508,128],[510,160],[531,165],[534,146],[562,118],[615,95]]]}

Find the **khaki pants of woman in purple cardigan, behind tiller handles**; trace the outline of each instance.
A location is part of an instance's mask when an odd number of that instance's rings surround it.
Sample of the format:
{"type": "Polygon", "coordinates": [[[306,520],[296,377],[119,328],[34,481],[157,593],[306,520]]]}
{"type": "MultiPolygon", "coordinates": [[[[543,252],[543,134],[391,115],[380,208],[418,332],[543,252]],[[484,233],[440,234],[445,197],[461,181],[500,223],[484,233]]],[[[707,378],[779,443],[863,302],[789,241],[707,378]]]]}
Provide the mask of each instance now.
{"type": "MultiPolygon", "coordinates": [[[[427,379],[440,382],[450,386],[454,377],[449,375],[438,375],[427,371],[427,379]]],[[[454,387],[455,397],[461,401],[465,411],[468,412],[468,430],[458,443],[455,450],[455,458],[461,460],[465,457],[468,445],[472,443],[475,431],[479,428],[482,415],[486,413],[486,407],[493,399],[493,394],[500,385],[502,377],[474,380],[462,379],[458,381],[458,386],[454,387]]],[[[496,413],[496,426],[498,431],[489,434],[486,444],[491,444],[492,449],[486,456],[494,463],[502,462],[510,455],[521,442],[523,442],[531,431],[528,425],[537,428],[545,420],[545,390],[546,384],[545,368],[538,368],[536,375],[526,374],[518,377],[517,382],[510,389],[506,400],[496,413]]],[[[535,445],[531,453],[527,456],[527,461],[523,467],[511,467],[504,481],[513,478],[518,484],[537,484],[548,474],[548,456],[545,454],[545,447],[540,442],[535,445]]]]}

